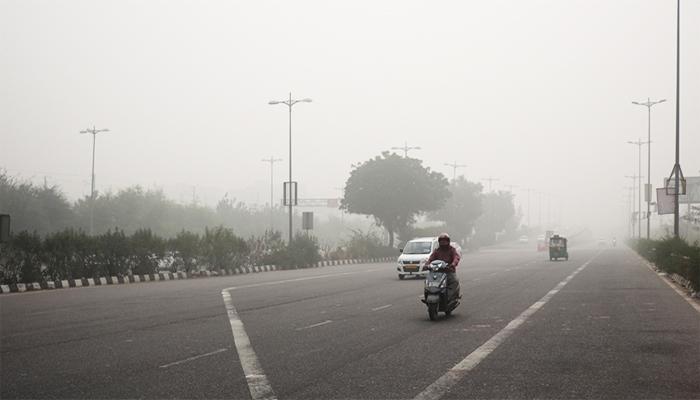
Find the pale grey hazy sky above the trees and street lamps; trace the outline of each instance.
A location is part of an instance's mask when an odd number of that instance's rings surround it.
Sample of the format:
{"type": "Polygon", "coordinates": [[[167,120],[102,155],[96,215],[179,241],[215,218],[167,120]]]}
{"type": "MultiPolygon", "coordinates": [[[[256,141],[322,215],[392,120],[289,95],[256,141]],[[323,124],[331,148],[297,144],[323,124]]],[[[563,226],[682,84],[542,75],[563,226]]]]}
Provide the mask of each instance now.
{"type": "MultiPolygon", "coordinates": [[[[652,181],[674,156],[675,1],[0,0],[0,167],[89,193],[141,184],[215,204],[269,198],[295,106],[300,195],[336,197],[392,146],[451,176],[556,196],[569,223],[620,223],[646,109],[652,181]]],[[[700,170],[700,1],[682,0],[681,165],[700,170]]],[[[644,150],[646,152],[646,149],[644,150]]],[[[646,153],[644,155],[646,164],[646,153]]],[[[643,168],[646,168],[645,166],[643,168]]],[[[646,175],[644,173],[643,175],[646,175]]],[[[525,203],[525,193],[515,190],[525,203]]],[[[532,218],[537,218],[532,195],[532,218]]],[[[526,210],[526,209],[525,209],[526,210]]]]}

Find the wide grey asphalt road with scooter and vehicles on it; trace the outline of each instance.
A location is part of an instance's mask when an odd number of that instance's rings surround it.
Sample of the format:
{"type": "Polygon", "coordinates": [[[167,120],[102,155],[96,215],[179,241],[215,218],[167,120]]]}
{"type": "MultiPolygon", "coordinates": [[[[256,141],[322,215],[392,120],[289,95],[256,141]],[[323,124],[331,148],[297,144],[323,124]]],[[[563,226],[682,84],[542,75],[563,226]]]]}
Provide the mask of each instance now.
{"type": "Polygon", "coordinates": [[[632,251],[530,247],[435,322],[392,263],[3,295],[0,398],[249,399],[251,362],[279,399],[700,398],[700,313],[632,251]]]}

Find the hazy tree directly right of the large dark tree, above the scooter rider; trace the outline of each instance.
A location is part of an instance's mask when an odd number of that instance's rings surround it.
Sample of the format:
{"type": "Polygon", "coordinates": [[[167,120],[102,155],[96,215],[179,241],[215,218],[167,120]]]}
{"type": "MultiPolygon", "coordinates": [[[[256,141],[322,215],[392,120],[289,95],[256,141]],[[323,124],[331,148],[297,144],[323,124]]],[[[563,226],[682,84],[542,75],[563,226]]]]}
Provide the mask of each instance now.
{"type": "Polygon", "coordinates": [[[450,185],[452,196],[445,206],[431,213],[430,217],[444,221],[445,230],[453,240],[460,242],[469,239],[477,218],[484,212],[482,189],[480,183],[469,182],[460,176],[450,185]]]}

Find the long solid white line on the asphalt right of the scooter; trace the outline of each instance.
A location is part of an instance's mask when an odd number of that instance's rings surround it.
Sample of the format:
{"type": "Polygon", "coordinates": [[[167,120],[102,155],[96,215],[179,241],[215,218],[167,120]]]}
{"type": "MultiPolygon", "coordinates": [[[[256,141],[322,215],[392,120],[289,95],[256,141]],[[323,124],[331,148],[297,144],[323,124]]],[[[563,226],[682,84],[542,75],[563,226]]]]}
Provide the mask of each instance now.
{"type": "MultiPolygon", "coordinates": [[[[600,253],[598,253],[600,254],[600,253]]],[[[520,315],[518,315],[514,320],[510,321],[505,328],[501,329],[497,334],[495,334],[491,339],[487,340],[484,344],[479,346],[476,350],[471,352],[462,361],[457,363],[454,367],[450,368],[447,373],[438,378],[435,382],[431,383],[427,388],[420,392],[414,400],[436,400],[444,396],[450,388],[455,386],[462,378],[464,378],[469,371],[476,368],[479,363],[481,363],[486,357],[489,356],[498,346],[500,346],[510,335],[515,332],[515,330],[522,325],[528,318],[532,316],[537,310],[542,308],[547,302],[554,297],[564,286],[566,286],[569,281],[571,281],[574,276],[581,272],[591,261],[598,255],[594,255],[583,265],[578,267],[574,272],[567,276],[563,281],[559,282],[554,289],[547,292],[540,300],[533,303],[520,315]]]]}

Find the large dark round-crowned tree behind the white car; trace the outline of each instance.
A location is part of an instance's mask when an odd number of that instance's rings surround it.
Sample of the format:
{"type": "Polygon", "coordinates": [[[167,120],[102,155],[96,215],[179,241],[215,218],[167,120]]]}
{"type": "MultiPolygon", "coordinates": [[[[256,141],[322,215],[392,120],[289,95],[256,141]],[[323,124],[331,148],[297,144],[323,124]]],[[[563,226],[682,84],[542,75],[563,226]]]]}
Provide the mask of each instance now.
{"type": "Polygon", "coordinates": [[[353,165],[345,183],[341,208],[351,213],[371,215],[389,233],[408,228],[418,214],[441,208],[450,193],[447,179],[415,158],[382,153],[353,165]]]}

